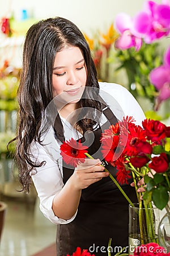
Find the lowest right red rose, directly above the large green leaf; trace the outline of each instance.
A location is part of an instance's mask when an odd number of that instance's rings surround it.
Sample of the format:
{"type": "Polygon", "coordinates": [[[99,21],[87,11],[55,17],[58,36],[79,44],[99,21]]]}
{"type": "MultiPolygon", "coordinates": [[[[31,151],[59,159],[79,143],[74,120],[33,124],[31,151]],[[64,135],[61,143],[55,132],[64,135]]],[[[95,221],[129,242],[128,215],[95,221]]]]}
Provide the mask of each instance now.
{"type": "Polygon", "coordinates": [[[148,167],[156,172],[165,172],[168,170],[168,158],[165,153],[161,153],[159,156],[154,156],[152,162],[148,164],[148,167]]]}

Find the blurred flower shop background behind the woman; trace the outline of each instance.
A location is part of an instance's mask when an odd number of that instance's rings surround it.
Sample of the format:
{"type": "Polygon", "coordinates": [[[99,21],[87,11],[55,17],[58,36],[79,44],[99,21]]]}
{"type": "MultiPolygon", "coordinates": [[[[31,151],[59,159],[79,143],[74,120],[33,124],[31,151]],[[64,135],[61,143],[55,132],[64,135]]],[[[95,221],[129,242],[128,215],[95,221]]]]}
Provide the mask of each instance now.
{"type": "MultiPolygon", "coordinates": [[[[118,18],[118,15],[124,13],[133,19],[144,7],[148,10],[146,2],[6,0],[4,3],[1,0],[0,256],[55,255],[56,226],[42,216],[33,186],[29,195],[18,192],[20,185],[17,166],[6,149],[6,144],[14,138],[17,127],[16,93],[22,70],[25,33],[40,19],[52,16],[70,19],[80,28],[90,44],[99,81],[116,82],[125,86],[142,106],[147,118],[159,119],[169,125],[170,75],[162,79],[164,84],[160,84],[153,81],[150,74],[162,65],[170,74],[170,60],[164,63],[170,45],[170,20],[168,18],[167,23],[163,23],[163,16],[156,15],[156,20],[152,16],[155,37],[151,38],[146,35],[146,31],[140,35],[135,34],[123,16],[118,18]],[[120,23],[124,31],[118,27],[120,23]],[[166,32],[160,35],[158,30],[166,32]],[[129,45],[127,34],[131,40],[129,45]],[[46,249],[49,249],[48,253],[46,249]]],[[[158,6],[164,3],[166,11],[170,10],[168,1],[154,2],[158,6]]],[[[10,150],[15,150],[15,144],[12,144],[10,150]]]]}

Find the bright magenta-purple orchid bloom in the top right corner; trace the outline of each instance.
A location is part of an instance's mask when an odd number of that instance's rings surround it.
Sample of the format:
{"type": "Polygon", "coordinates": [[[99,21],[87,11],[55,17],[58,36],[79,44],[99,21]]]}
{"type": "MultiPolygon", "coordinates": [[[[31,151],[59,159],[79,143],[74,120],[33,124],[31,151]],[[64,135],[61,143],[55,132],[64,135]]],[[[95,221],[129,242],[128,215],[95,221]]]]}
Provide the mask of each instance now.
{"type": "Polygon", "coordinates": [[[162,4],[147,1],[144,10],[134,17],[134,30],[146,43],[167,36],[170,32],[170,3],[163,0],[162,4]]]}

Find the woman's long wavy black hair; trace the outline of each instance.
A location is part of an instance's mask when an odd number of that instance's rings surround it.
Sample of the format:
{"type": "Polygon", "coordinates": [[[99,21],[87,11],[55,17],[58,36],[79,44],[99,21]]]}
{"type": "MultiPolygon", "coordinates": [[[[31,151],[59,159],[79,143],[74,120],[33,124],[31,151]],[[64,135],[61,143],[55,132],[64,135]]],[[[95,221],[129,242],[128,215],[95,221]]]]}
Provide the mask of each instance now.
{"type": "MultiPolygon", "coordinates": [[[[82,51],[86,68],[86,86],[99,88],[94,61],[90,48],[79,28],[70,20],[56,17],[40,20],[33,24],[26,36],[23,47],[22,75],[18,90],[19,125],[16,136],[16,163],[19,168],[19,181],[23,191],[29,191],[31,176],[29,172],[42,166],[32,160],[30,147],[32,142],[39,142],[42,114],[53,100],[52,74],[56,53],[65,46],[79,47],[82,51]]],[[[98,90],[99,92],[99,90],[98,90]]],[[[93,100],[97,90],[88,90],[88,97],[80,100],[80,106],[95,108],[101,112],[101,102],[93,100]]],[[[94,121],[80,121],[82,131],[94,125],[94,121]]]]}

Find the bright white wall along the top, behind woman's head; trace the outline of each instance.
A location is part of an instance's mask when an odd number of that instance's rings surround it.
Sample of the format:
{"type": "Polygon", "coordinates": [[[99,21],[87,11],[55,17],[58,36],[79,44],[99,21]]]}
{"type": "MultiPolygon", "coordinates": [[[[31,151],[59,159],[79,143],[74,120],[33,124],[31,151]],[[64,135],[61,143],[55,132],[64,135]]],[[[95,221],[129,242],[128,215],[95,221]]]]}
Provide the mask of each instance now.
{"type": "MultiPolygon", "coordinates": [[[[114,22],[116,14],[134,15],[145,0],[0,0],[0,18],[14,14],[20,19],[21,10],[27,9],[37,19],[62,16],[73,21],[83,32],[96,28],[104,30],[114,22]]],[[[157,0],[161,2],[161,0],[157,0]]]]}

